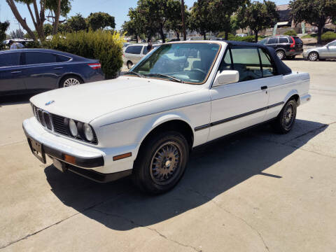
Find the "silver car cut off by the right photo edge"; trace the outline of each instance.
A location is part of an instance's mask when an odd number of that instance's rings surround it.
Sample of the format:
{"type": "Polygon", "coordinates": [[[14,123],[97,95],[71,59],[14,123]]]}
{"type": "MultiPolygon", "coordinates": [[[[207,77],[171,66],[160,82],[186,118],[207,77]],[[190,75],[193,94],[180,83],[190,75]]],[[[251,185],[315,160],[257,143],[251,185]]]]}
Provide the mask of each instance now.
{"type": "Polygon", "coordinates": [[[311,48],[303,52],[304,59],[310,61],[336,59],[336,40],[322,47],[311,48]]]}

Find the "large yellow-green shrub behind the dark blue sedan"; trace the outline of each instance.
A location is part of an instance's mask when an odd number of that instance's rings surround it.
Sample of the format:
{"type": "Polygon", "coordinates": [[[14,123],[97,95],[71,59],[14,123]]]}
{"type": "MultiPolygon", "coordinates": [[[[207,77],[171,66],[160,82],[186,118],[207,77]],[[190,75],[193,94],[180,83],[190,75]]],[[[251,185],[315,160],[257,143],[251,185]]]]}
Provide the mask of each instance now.
{"type": "Polygon", "coordinates": [[[111,31],[77,31],[57,34],[46,43],[48,48],[99,59],[106,79],[116,78],[123,66],[123,35],[111,31]]]}

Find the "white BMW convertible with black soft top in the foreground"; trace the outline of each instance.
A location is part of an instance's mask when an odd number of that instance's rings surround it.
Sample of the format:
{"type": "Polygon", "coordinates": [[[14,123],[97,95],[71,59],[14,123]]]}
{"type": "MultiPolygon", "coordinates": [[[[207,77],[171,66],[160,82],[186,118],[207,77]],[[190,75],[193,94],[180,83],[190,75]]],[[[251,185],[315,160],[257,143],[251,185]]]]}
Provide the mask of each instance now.
{"type": "Polygon", "coordinates": [[[116,79],[31,97],[23,129],[31,152],[62,172],[132,175],[145,192],[165,193],[197,146],[262,123],[290,132],[309,82],[257,43],[165,43],[116,79]]]}

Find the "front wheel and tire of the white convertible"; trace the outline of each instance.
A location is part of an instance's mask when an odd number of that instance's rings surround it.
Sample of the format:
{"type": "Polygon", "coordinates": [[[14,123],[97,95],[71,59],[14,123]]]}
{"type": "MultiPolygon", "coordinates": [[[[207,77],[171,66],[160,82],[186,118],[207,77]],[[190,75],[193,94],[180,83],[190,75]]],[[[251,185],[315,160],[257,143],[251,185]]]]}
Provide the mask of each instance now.
{"type": "Polygon", "coordinates": [[[176,186],[186,171],[188,141],[179,132],[162,132],[148,139],[134,162],[134,184],[152,195],[176,186]]]}

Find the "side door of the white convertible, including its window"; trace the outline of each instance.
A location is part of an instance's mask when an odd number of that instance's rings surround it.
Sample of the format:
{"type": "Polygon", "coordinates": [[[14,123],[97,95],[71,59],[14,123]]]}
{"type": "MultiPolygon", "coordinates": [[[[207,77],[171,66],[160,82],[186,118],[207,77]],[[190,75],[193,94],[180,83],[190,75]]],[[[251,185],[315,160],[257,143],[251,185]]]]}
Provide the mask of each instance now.
{"type": "Polygon", "coordinates": [[[225,52],[219,71],[236,70],[239,82],[212,87],[209,141],[261,123],[266,114],[267,83],[258,48],[234,46],[225,52]]]}

